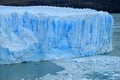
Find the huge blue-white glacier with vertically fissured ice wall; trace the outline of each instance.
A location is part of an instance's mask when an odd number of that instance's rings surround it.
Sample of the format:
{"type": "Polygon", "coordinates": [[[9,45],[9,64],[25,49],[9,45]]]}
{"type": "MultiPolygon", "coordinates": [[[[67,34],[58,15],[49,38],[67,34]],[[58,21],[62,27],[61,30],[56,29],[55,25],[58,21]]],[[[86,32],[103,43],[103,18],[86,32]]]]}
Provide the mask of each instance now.
{"type": "Polygon", "coordinates": [[[103,11],[0,6],[0,64],[110,52],[112,27],[103,11]]]}

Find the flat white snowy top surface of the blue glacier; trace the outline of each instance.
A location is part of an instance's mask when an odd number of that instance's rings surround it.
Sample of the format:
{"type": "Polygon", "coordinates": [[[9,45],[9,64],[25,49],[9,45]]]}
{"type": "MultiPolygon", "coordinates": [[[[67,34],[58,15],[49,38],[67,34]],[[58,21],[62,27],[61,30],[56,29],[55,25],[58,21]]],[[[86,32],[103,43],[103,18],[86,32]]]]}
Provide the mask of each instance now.
{"type": "MultiPolygon", "coordinates": [[[[99,14],[104,13],[103,11],[96,11],[94,9],[74,9],[66,7],[53,7],[53,6],[28,6],[28,7],[13,7],[13,6],[0,6],[0,14],[9,14],[16,12],[23,14],[29,12],[31,14],[37,14],[42,16],[71,16],[71,15],[82,15],[82,14],[99,14]]],[[[107,12],[106,12],[107,13],[107,12]]]]}

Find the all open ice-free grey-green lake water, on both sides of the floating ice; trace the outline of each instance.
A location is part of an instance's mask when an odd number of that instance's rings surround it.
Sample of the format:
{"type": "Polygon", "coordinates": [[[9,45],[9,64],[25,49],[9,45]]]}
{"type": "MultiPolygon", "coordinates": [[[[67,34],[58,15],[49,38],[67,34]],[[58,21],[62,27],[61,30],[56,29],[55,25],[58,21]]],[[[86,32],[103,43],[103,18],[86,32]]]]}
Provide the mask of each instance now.
{"type": "MultiPolygon", "coordinates": [[[[111,14],[114,17],[113,51],[106,55],[120,56],[120,14],[111,14]]],[[[56,75],[64,68],[51,61],[36,63],[21,63],[0,66],[0,80],[35,80],[47,73],[56,75]]]]}

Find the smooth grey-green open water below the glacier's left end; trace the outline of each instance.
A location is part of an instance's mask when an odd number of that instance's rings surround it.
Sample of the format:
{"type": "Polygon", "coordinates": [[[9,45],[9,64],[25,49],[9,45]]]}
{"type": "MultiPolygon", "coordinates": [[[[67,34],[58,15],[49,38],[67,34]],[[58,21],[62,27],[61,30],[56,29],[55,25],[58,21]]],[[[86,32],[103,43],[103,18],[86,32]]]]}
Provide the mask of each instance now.
{"type": "Polygon", "coordinates": [[[21,63],[0,66],[0,80],[35,80],[46,74],[56,75],[64,68],[50,62],[21,63]]]}

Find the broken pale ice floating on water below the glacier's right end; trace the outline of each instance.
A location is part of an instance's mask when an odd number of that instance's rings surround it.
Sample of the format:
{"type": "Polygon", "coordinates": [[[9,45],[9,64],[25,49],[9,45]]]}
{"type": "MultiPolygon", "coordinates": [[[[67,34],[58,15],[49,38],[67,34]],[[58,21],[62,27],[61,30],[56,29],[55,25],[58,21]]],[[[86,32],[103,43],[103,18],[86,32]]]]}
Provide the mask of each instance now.
{"type": "Polygon", "coordinates": [[[120,57],[91,56],[53,61],[65,70],[38,80],[120,80],[120,57]]]}

